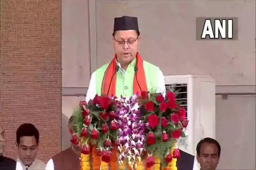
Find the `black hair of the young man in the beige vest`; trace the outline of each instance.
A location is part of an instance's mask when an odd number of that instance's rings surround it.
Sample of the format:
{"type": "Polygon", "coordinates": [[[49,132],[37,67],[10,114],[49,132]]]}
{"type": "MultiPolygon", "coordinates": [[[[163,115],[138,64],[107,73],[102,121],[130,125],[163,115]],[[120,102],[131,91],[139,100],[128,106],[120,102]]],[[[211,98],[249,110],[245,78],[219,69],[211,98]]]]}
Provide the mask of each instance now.
{"type": "Polygon", "coordinates": [[[23,136],[34,136],[37,143],[39,143],[39,132],[37,128],[31,123],[24,123],[19,126],[16,131],[16,142],[19,144],[20,138],[23,136]]]}

